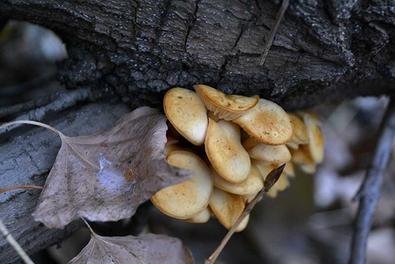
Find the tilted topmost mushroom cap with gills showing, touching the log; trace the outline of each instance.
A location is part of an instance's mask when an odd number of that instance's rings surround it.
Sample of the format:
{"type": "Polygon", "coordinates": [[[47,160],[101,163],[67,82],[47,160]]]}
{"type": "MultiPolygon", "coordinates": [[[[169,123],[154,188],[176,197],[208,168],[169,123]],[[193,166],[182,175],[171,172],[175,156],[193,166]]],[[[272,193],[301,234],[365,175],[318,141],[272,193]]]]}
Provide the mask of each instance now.
{"type": "Polygon", "coordinates": [[[227,121],[233,120],[240,114],[252,109],[259,100],[258,95],[253,97],[228,95],[206,85],[194,85],[194,88],[207,109],[227,121]]]}

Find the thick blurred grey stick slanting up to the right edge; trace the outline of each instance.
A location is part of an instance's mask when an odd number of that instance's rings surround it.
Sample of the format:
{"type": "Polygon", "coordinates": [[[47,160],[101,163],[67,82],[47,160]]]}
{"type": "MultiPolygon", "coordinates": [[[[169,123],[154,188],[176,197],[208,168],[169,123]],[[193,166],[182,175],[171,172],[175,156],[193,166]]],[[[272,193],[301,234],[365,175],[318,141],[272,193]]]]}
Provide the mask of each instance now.
{"type": "Polygon", "coordinates": [[[395,101],[391,99],[380,127],[380,133],[373,160],[366,171],[365,179],[357,194],[359,208],[356,214],[355,229],[351,245],[350,264],[364,264],[366,241],[372,225],[372,217],[380,197],[383,173],[395,135],[395,101]]]}

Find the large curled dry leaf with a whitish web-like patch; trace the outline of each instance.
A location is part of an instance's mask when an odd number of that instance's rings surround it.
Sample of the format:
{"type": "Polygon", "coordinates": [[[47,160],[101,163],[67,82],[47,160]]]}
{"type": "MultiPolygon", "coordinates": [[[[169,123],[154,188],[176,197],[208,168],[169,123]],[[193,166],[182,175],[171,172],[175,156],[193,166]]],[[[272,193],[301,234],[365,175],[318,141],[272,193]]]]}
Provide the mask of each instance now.
{"type": "Polygon", "coordinates": [[[166,117],[141,107],[121,117],[108,131],[68,137],[49,173],[33,217],[62,228],[79,217],[115,221],[165,186],[192,173],[165,160],[166,117]]]}

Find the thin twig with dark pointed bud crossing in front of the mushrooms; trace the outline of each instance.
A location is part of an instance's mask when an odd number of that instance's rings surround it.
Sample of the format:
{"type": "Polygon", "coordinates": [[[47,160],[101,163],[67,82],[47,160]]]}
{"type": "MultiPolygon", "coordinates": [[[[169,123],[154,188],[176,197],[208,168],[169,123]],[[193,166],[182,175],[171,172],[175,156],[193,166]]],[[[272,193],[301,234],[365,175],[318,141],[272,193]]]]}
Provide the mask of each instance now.
{"type": "Polygon", "coordinates": [[[243,212],[237,219],[237,221],[233,224],[232,228],[228,231],[225,237],[222,239],[221,243],[217,247],[217,249],[211,254],[211,256],[204,261],[204,264],[213,264],[217,260],[219,254],[221,254],[222,250],[231,239],[232,235],[235,233],[236,228],[239,226],[242,220],[251,212],[254,206],[258,203],[261,197],[272,188],[272,186],[276,183],[278,178],[280,177],[282,171],[284,170],[285,164],[281,165],[280,167],[274,169],[269,173],[268,176],[265,178],[265,185],[263,188],[255,195],[254,199],[250,203],[247,203],[243,212]]]}

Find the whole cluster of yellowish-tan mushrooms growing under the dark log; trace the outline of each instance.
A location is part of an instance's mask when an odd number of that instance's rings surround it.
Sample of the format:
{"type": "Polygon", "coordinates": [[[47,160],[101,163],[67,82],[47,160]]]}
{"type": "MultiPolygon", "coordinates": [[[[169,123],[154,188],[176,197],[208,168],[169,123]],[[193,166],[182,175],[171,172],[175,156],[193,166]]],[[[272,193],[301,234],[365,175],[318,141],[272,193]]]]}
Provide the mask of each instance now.
{"type": "Polygon", "coordinates": [[[194,177],[151,198],[162,213],[195,223],[212,216],[230,229],[273,169],[286,164],[267,193],[271,197],[288,187],[288,176],[295,175],[292,162],[310,173],[322,161],[321,123],[313,113],[288,114],[259,96],[227,95],[205,85],[194,88],[196,92],[172,88],[163,98],[169,121],[166,160],[194,177]]]}

